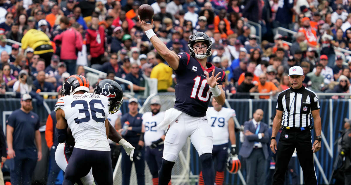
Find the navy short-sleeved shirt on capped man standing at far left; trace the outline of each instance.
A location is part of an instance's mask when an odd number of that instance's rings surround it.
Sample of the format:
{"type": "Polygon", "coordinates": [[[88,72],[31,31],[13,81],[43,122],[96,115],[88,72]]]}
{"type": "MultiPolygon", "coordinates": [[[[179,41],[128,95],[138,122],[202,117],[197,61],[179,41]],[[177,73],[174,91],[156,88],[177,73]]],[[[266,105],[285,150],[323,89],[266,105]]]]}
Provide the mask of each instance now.
{"type": "Polygon", "coordinates": [[[38,114],[32,111],[27,114],[17,109],[8,117],[6,124],[13,127],[13,149],[37,148],[34,138],[40,127],[38,114]]]}

